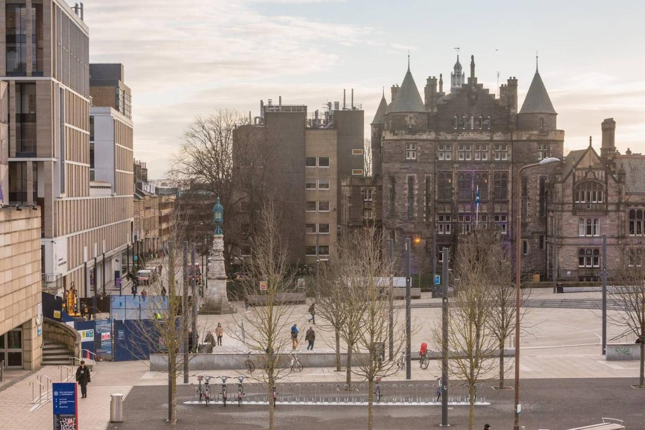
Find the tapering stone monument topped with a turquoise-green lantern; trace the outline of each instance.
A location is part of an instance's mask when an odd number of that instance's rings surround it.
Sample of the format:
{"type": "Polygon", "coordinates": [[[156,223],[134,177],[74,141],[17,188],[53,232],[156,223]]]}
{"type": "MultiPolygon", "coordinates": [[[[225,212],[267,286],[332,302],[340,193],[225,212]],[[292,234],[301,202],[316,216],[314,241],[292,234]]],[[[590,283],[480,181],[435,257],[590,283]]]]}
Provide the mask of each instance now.
{"type": "Polygon", "coordinates": [[[215,234],[213,234],[213,249],[206,280],[208,287],[204,289],[202,305],[199,309],[200,314],[206,315],[223,315],[234,314],[237,312],[234,307],[228,303],[226,297],[226,267],[224,267],[224,207],[219,201],[219,197],[213,206],[213,222],[215,223],[215,234]]]}

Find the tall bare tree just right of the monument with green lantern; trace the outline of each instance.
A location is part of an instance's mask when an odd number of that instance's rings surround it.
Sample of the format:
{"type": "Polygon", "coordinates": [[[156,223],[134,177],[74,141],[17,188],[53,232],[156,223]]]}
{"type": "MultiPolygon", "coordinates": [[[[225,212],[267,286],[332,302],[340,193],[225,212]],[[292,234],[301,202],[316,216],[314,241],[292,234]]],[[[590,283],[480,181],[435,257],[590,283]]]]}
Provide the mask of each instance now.
{"type": "Polygon", "coordinates": [[[281,295],[295,291],[295,278],[272,204],[266,205],[261,212],[261,225],[259,234],[253,238],[250,277],[244,281],[244,290],[247,296],[255,296],[254,299],[262,303],[250,307],[249,312],[235,319],[238,330],[232,336],[260,356],[263,373],[253,378],[266,384],[269,428],[274,429],[272,390],[277,380],[290,372],[279,363],[286,361],[283,351],[291,350],[289,327],[295,309],[293,305],[284,303],[281,295]],[[260,289],[261,282],[263,289],[260,289]]]}

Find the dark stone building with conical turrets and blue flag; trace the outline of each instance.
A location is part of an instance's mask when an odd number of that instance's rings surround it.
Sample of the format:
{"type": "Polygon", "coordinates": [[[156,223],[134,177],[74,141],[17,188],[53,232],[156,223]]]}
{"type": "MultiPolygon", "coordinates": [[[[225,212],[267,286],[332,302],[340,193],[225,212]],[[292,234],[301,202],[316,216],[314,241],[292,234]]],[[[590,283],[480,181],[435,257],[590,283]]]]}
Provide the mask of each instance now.
{"type": "Polygon", "coordinates": [[[546,267],[547,184],[553,167],[526,171],[517,192],[517,172],[548,157],[562,158],[564,132],[537,70],[518,110],[515,77],[499,88],[499,97],[470,75],[457,57],[450,92],[443,77],[429,76],[421,97],[410,66],[401,86],[381,99],[372,121],[373,171],[381,181],[381,222],[395,240],[402,261],[411,238],[414,272],[429,273],[441,263],[442,247],[478,225],[495,225],[513,241],[515,207],[522,203],[524,271],[544,274],[546,267]],[[479,210],[475,199],[479,194],[479,210]]]}

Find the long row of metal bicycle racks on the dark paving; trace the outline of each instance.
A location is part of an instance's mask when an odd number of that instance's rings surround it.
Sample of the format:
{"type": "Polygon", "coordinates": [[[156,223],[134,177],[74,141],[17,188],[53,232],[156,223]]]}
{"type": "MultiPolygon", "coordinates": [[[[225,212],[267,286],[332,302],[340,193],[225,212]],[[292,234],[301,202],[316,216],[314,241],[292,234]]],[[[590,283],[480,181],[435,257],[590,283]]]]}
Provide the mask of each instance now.
{"type": "MultiPolygon", "coordinates": [[[[214,378],[213,378],[214,380],[214,378]]],[[[437,396],[437,384],[408,383],[405,381],[386,382],[378,386],[380,398],[373,396],[374,404],[383,405],[441,405],[441,398],[437,396]]],[[[373,393],[377,391],[377,385],[373,386],[373,393]]],[[[222,384],[210,385],[212,402],[222,402],[222,384]]],[[[227,402],[237,402],[239,386],[237,382],[226,384],[227,402]]],[[[368,384],[360,382],[347,384],[330,382],[296,382],[275,384],[276,405],[364,405],[368,402],[368,384]]],[[[481,395],[483,384],[475,387],[475,404],[488,405],[486,399],[481,395]]],[[[243,384],[243,404],[267,404],[272,397],[272,390],[267,384],[251,383],[243,384]]],[[[450,384],[448,386],[448,404],[467,405],[470,401],[468,386],[450,384]]],[[[194,385],[194,393],[185,404],[205,404],[199,401],[197,385],[194,385]]]]}

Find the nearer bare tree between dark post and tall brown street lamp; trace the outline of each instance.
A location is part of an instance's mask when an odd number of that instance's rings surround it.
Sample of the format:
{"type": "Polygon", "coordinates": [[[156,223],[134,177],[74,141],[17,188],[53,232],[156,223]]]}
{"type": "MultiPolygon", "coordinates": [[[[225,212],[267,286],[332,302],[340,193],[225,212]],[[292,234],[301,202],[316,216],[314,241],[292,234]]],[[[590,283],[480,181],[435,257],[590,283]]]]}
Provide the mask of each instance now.
{"type": "MultiPolygon", "coordinates": [[[[473,429],[475,385],[495,368],[495,362],[488,359],[497,339],[490,329],[491,268],[495,261],[490,256],[487,235],[486,229],[475,229],[462,238],[453,267],[456,293],[449,310],[448,363],[451,373],[468,385],[468,430],[473,429]]],[[[443,344],[441,324],[435,329],[435,342],[443,344]]]]}

